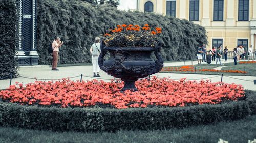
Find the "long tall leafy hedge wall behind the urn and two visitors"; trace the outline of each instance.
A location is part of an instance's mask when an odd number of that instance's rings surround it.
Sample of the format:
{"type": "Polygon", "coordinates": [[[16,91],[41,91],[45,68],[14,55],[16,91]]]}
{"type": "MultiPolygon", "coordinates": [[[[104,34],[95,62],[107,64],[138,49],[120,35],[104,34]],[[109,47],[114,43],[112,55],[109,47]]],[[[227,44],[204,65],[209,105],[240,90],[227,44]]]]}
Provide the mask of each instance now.
{"type": "Polygon", "coordinates": [[[80,0],[37,1],[37,45],[39,64],[50,64],[49,43],[59,36],[65,45],[60,63],[90,63],[94,38],[117,24],[150,24],[163,28],[161,42],[164,60],[195,59],[199,44],[207,43],[203,27],[154,13],[125,12],[106,5],[91,5],[80,0]]]}

